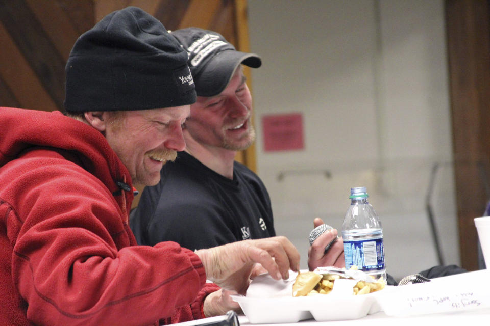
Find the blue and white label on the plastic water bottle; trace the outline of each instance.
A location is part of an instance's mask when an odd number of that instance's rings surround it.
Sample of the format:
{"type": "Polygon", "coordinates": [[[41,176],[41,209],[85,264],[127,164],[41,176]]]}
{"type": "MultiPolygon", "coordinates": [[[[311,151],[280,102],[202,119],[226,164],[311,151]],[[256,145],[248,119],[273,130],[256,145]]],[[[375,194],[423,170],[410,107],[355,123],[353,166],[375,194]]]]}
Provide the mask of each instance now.
{"type": "Polygon", "coordinates": [[[346,241],[344,240],[346,269],[356,265],[366,272],[384,270],[383,238],[346,241]]]}

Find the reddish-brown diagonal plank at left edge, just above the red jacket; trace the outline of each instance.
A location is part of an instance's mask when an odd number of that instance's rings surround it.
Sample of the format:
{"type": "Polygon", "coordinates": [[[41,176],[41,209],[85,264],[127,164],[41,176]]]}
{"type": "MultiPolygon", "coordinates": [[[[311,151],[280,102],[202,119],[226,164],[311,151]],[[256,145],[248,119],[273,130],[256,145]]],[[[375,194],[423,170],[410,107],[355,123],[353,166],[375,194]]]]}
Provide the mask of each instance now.
{"type": "Polygon", "coordinates": [[[0,75],[22,108],[53,111],[55,102],[43,88],[36,73],[22,56],[4,25],[0,23],[0,75]]]}

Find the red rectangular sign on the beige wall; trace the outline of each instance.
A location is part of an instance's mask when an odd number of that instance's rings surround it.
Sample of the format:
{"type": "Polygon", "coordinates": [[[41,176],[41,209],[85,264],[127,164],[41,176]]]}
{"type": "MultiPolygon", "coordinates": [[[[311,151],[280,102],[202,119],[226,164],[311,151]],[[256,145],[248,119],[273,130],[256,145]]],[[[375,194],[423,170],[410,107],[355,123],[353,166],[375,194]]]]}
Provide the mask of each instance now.
{"type": "Polygon", "coordinates": [[[304,149],[301,113],[262,116],[264,151],[304,149]]]}

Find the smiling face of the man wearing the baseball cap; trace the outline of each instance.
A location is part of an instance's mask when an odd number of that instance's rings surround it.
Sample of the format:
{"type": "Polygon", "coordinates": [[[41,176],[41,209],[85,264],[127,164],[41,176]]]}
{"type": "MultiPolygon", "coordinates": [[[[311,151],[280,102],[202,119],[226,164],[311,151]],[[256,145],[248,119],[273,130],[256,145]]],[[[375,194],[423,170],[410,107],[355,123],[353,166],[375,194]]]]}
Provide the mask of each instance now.
{"type": "Polygon", "coordinates": [[[185,132],[203,146],[239,151],[255,140],[252,126],[252,96],[238,68],[228,86],[212,97],[198,96],[190,106],[185,132]]]}

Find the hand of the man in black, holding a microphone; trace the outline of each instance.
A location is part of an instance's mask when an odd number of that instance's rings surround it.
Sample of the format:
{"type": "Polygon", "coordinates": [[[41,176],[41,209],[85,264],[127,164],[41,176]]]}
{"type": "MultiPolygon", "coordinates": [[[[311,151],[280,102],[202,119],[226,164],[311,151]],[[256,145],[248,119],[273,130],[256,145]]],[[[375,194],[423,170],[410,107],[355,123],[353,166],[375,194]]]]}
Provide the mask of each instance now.
{"type": "MultiPolygon", "coordinates": [[[[316,228],[324,224],[322,219],[316,218],[313,221],[313,226],[316,228]]],[[[324,255],[325,247],[337,236],[338,232],[335,229],[331,229],[324,232],[322,235],[316,238],[313,244],[308,249],[308,268],[313,270],[316,267],[321,266],[335,266],[344,268],[346,266],[344,260],[344,241],[339,238],[332,243],[327,253],[324,255]]]]}

